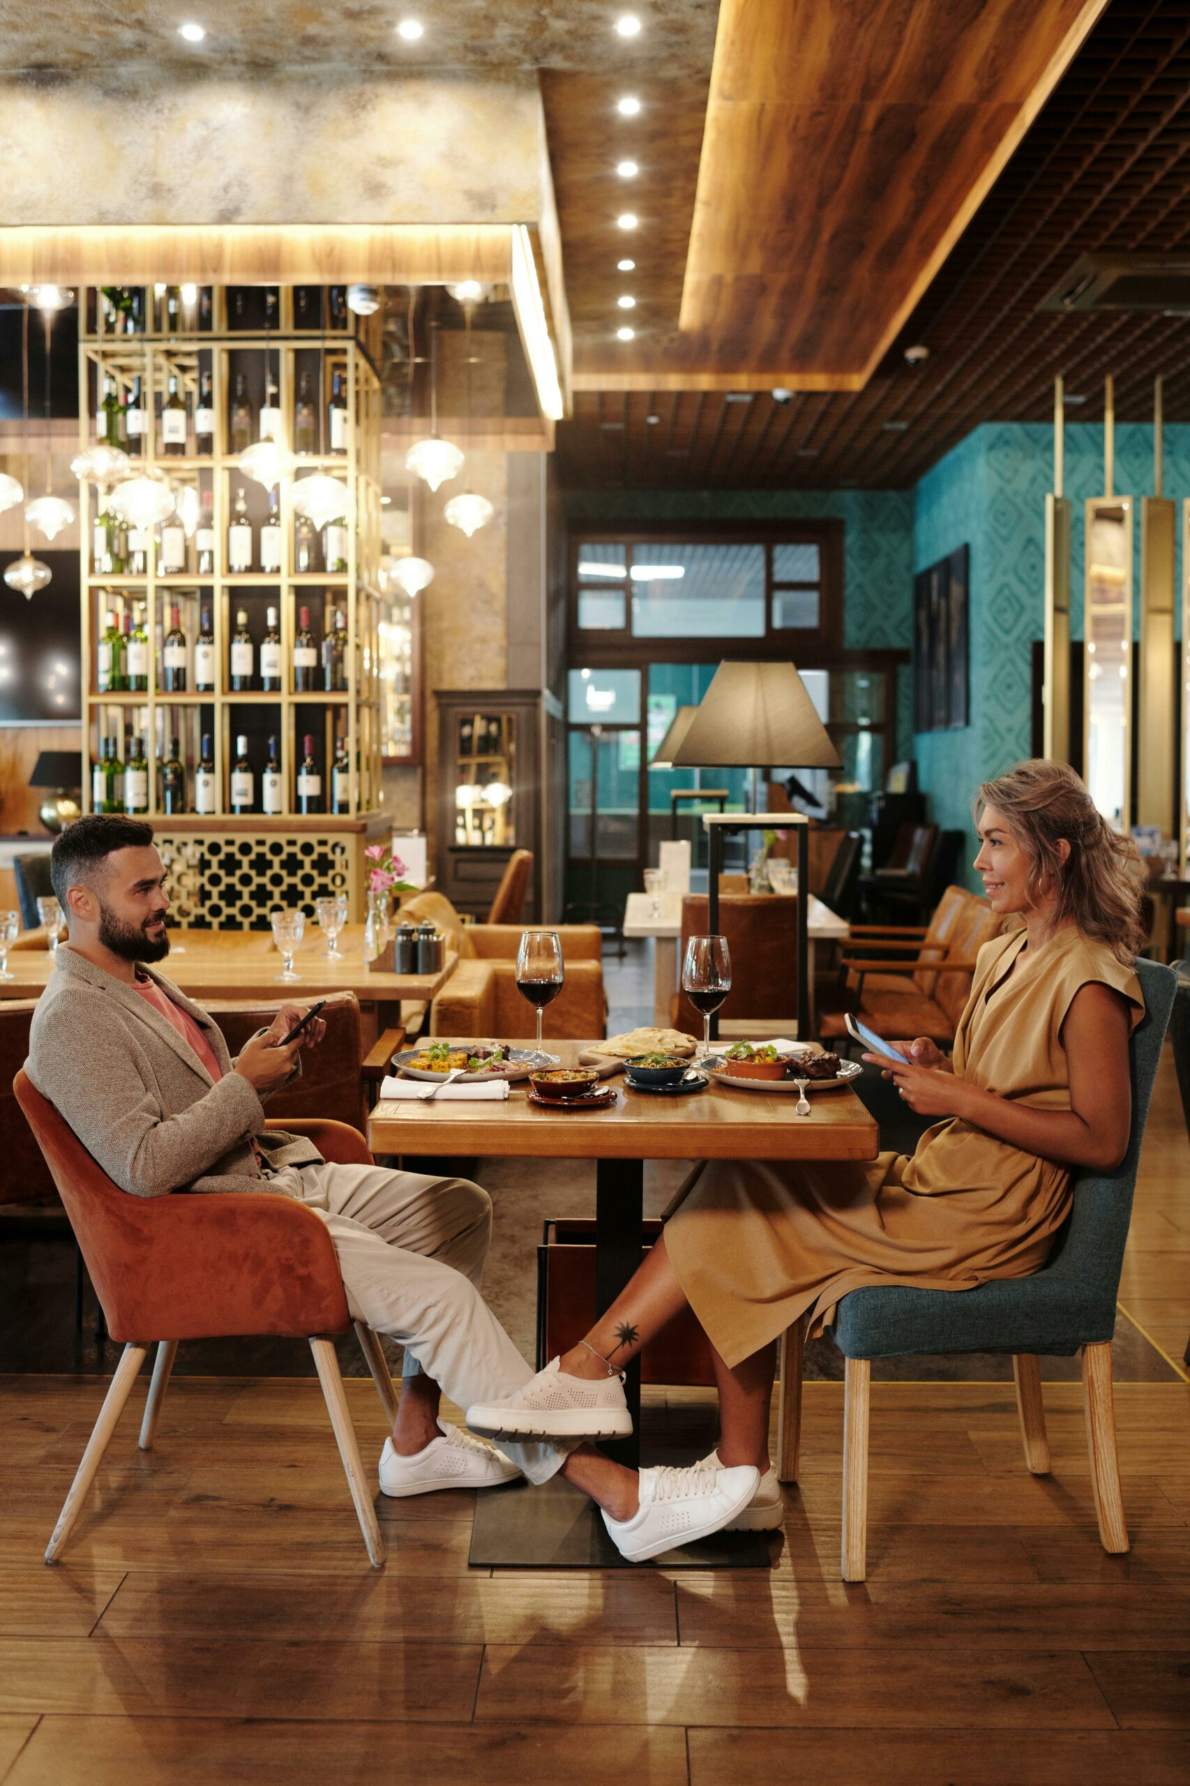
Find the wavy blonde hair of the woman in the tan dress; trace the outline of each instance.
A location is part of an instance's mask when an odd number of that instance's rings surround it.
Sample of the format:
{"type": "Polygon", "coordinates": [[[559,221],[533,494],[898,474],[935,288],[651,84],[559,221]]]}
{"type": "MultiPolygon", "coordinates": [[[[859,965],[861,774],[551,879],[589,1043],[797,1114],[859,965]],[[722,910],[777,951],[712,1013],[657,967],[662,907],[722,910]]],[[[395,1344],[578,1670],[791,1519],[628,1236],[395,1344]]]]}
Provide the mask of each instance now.
{"type": "Polygon", "coordinates": [[[985,805],[1004,814],[1029,857],[1029,898],[1049,897],[1056,888],[1056,922],[1074,923],[1131,966],[1147,941],[1140,916],[1145,886],[1140,852],[1131,838],[1108,825],[1070,764],[1045,757],[1017,763],[983,784],[972,802],[976,822],[985,805]],[[1065,863],[1058,859],[1063,838],[1070,845],[1065,863]]]}

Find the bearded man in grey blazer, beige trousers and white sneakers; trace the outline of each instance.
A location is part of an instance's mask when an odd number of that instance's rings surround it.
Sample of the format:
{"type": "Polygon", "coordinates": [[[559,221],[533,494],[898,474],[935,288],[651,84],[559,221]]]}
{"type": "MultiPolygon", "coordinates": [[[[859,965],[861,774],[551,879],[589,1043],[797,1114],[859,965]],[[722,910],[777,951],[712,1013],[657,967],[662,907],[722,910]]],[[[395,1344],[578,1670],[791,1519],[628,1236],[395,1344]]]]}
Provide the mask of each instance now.
{"type": "Polygon", "coordinates": [[[406,1348],[384,1495],[491,1488],[518,1472],[561,1472],[591,1495],[624,1556],[645,1559],[727,1525],[750,1500],[754,1468],[708,1459],[690,1470],[624,1470],[586,1438],[631,1432],[615,1365],[599,1382],[534,1375],[479,1293],[491,1198],[466,1179],[427,1179],[323,1161],[300,1136],[266,1131],[263,1098],[322,1041],[316,1018],[282,1006],[236,1061],[216,1023],[148,963],[170,952],[170,898],[152,827],[116,814],[75,820],[54,843],[50,879],[68,941],[34,1011],[25,1072],[104,1172],[132,1197],[272,1191],[313,1207],[331,1231],[347,1307],[406,1348]],[[482,1418],[499,1450],[448,1427],[441,1390],[482,1418]]]}

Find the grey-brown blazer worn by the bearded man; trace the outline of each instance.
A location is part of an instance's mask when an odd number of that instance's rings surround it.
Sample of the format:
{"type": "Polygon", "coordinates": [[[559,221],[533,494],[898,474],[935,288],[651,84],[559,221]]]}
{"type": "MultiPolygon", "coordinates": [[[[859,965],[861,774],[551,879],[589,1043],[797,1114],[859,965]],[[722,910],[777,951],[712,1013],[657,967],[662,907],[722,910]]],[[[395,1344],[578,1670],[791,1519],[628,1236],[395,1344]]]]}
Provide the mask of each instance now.
{"type": "Polygon", "coordinates": [[[264,1131],[261,1098],[232,1072],[223,1034],[164,975],[145,968],[200,1023],[222,1079],[138,991],[68,943],[38,1000],[25,1072],[109,1179],[134,1197],[268,1191],[266,1168],[322,1159],[302,1136],[264,1131]]]}

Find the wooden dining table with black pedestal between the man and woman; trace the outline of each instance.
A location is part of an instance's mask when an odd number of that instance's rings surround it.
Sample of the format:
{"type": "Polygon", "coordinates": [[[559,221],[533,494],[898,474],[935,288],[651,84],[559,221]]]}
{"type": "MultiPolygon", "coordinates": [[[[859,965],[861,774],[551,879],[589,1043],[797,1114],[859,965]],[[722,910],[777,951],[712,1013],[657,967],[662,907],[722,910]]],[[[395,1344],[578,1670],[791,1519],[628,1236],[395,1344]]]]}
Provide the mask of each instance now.
{"type": "MultiPolygon", "coordinates": [[[[550,1043],[563,1066],[597,1041],[550,1043]]],[[[795,1091],[742,1091],[711,1081],[684,1097],[634,1091],[620,1073],[606,1081],[616,1102],[606,1109],[541,1109],[515,1084],[507,1100],[397,1102],[381,1098],[368,1120],[373,1154],[463,1159],[595,1161],[595,1306],[615,1302],[640,1264],[643,1163],[647,1159],[876,1159],[879,1129],[849,1086],[815,1091],[809,1116],[797,1116],[795,1091]]],[[[640,1365],[625,1381],[633,1436],[602,1448],[629,1466],[640,1463],[640,1365]]],[[[568,1484],[561,1484],[566,1490],[568,1484]]],[[[582,1522],[570,1498],[532,1491],[479,1497],[473,1565],[568,1566],[615,1563],[602,1522],[582,1522]],[[522,1511],[518,1511],[522,1509],[522,1511]]]]}

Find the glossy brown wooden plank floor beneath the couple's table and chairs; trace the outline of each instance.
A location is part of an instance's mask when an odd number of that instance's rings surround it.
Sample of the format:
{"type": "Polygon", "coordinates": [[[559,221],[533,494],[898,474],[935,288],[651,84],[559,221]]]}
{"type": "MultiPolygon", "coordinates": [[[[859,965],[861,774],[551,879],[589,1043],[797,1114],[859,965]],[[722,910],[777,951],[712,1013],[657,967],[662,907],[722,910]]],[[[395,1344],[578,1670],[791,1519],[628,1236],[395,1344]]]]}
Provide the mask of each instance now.
{"type": "MultiPolygon", "coordinates": [[[[1179,1361],[1190,1170],[1163,1064],[1122,1284],[1179,1361]]],[[[382,1502],[373,1573],[318,1386],[143,1386],[55,1568],[102,1384],[0,1379],[4,1786],[1186,1786],[1190,1386],[1117,1390],[1133,1548],[1108,1557],[1079,1390],[1052,1475],[1011,1391],[872,1390],[868,1581],[838,1579],[842,1388],[806,1386],[768,1573],[477,1573],[472,1497],[382,1502]]],[[[348,1397],[372,1466],[382,1418],[348,1397]]],[[[704,1391],[656,1391],[677,1441],[704,1391]]]]}

